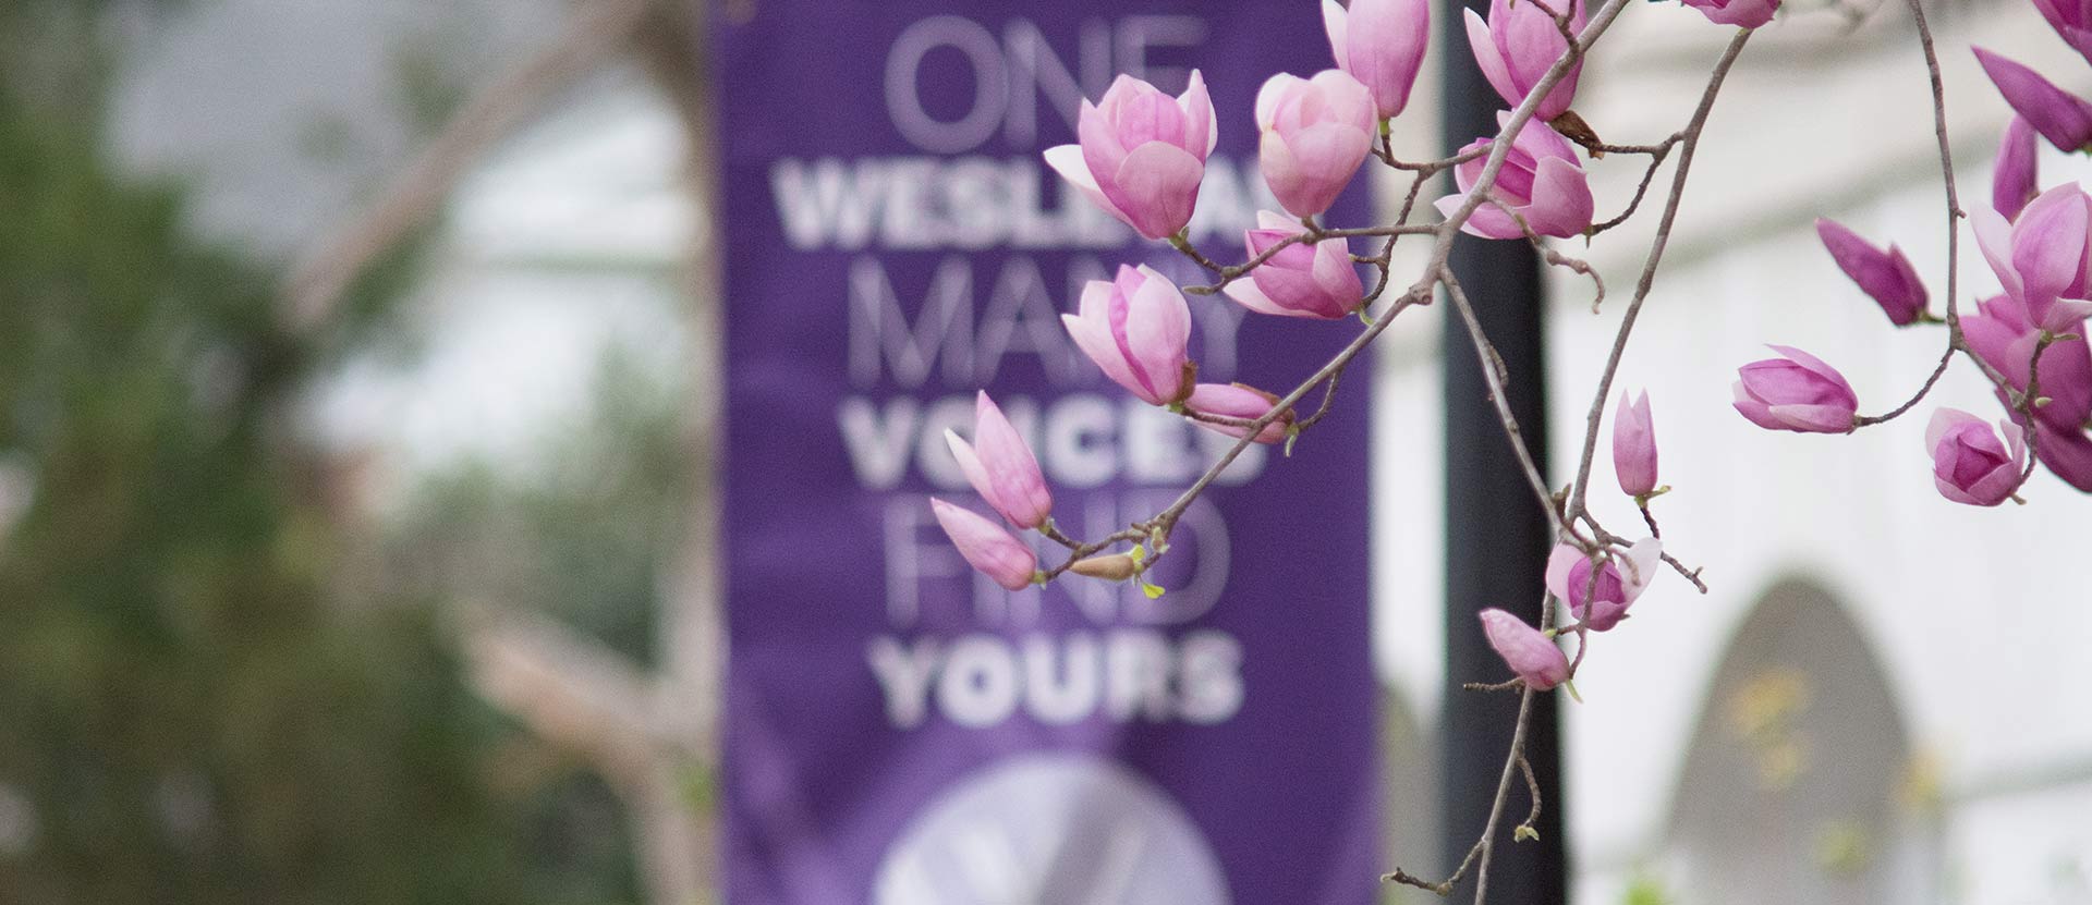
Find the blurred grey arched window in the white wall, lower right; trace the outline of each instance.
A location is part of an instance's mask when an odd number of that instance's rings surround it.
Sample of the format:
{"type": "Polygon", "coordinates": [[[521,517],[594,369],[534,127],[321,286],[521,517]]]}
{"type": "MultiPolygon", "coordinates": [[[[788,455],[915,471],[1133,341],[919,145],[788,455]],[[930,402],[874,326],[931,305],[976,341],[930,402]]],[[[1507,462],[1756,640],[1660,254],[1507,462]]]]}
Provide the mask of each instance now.
{"type": "Polygon", "coordinates": [[[1935,901],[1927,773],[1858,625],[1822,587],[1780,581],[1709,686],[1667,884],[1709,905],[1935,901]]]}

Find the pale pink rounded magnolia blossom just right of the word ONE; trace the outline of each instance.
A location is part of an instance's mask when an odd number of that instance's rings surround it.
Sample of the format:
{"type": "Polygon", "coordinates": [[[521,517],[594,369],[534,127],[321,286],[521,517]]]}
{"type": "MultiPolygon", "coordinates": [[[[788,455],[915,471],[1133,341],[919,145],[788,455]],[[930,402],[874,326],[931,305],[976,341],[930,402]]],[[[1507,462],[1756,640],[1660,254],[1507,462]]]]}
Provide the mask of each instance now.
{"type": "Polygon", "coordinates": [[[1372,150],[1372,92],[1343,69],[1278,73],[1257,90],[1257,165],[1278,207],[1312,217],[1337,203],[1372,150]]]}

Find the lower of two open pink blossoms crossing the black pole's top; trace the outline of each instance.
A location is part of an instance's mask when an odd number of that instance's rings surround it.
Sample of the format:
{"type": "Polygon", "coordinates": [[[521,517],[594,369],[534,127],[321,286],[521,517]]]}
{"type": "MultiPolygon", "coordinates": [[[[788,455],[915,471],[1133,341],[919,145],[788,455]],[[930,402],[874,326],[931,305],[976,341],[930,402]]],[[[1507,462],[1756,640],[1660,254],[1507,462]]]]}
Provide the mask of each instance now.
{"type": "MultiPolygon", "coordinates": [[[[1498,113],[1496,121],[1508,123],[1510,113],[1498,113]]],[[[1490,146],[1490,140],[1481,138],[1460,150],[1466,153],[1485,146],[1490,146]]],[[[1437,201],[1439,213],[1450,217],[1466,203],[1485,165],[1485,157],[1475,157],[1454,167],[1454,182],[1460,190],[1437,201]]],[[[1561,132],[1540,121],[1527,121],[1519,130],[1519,138],[1510,142],[1510,153],[1504,155],[1504,167],[1496,171],[1496,188],[1490,190],[1490,196],[1519,217],[1525,217],[1525,226],[1531,226],[1540,236],[1582,236],[1590,228],[1594,209],[1590,182],[1575,159],[1575,148],[1569,146],[1569,140],[1561,132]]],[[[1475,213],[1466,217],[1460,232],[1481,238],[1525,238],[1519,222],[1494,203],[1475,207],[1475,213]]]]}

